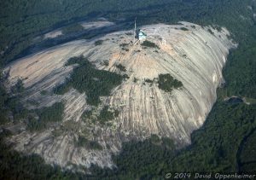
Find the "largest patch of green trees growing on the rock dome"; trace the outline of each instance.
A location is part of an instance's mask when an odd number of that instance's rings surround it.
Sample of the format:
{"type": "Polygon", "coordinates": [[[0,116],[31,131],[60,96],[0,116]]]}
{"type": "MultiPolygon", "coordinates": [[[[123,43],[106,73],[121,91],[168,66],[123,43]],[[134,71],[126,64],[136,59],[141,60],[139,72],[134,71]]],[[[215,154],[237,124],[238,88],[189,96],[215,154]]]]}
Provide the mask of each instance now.
{"type": "Polygon", "coordinates": [[[79,64],[64,84],[55,87],[56,94],[64,94],[70,88],[86,93],[90,105],[97,106],[100,96],[109,96],[114,87],[122,83],[123,76],[108,71],[97,70],[84,56],[70,58],[66,66],[79,64]]]}

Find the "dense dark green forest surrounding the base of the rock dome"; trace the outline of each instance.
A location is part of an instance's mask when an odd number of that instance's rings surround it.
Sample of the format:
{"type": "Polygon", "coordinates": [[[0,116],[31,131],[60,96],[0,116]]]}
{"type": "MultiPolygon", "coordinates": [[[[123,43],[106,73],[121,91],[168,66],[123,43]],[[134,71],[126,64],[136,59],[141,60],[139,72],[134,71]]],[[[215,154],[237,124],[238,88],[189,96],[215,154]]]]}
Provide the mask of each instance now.
{"type": "MultiPolygon", "coordinates": [[[[34,38],[56,27],[76,23],[83,18],[104,16],[110,20],[137,16],[140,25],[150,23],[177,23],[187,20],[201,26],[225,26],[239,44],[232,49],[224,67],[224,87],[219,88],[218,100],[205,124],[191,135],[191,145],[180,150],[172,142],[152,136],[144,142],[125,142],[120,154],[113,156],[117,168],[101,169],[92,166],[90,175],[61,171],[58,166],[45,165],[37,155],[23,155],[4,143],[9,131],[1,132],[1,179],[163,179],[167,172],[254,172],[256,171],[256,105],[230,104],[226,96],[256,98],[256,2],[251,0],[20,0],[1,2],[0,52],[3,67],[36,43],[34,38]],[[130,4],[133,4],[131,6],[130,4]],[[251,7],[251,8],[248,8],[251,7]]],[[[77,61],[76,63],[80,63],[77,61]]],[[[79,68],[73,77],[79,77],[79,68]]],[[[90,67],[90,71],[94,71],[90,67]]],[[[101,75],[98,78],[101,78],[101,75]]],[[[110,74],[108,74],[110,75],[110,74]]],[[[110,75],[114,76],[115,75],[110,75]]],[[[26,117],[27,111],[19,102],[17,85],[15,96],[0,84],[1,124],[26,117]]],[[[112,84],[119,84],[116,77],[112,84]]],[[[83,80],[81,78],[80,80],[83,80]]],[[[80,81],[79,80],[79,81],[80,81]]],[[[70,78],[76,88],[76,78],[70,78]]],[[[69,83],[69,84],[71,84],[69,83]]],[[[92,82],[93,83],[93,82],[92,82]]],[[[104,84],[104,83],[102,83],[104,84]]],[[[64,86],[66,87],[66,86],[64,86]]],[[[108,87],[111,90],[112,86],[108,87]]],[[[64,89],[64,88],[63,88],[64,89]]],[[[80,91],[86,91],[85,85],[80,91]]],[[[57,91],[61,89],[57,88],[57,91]]],[[[65,89],[64,89],[65,91],[65,89]]],[[[90,91],[86,91],[87,93],[90,91]]],[[[98,103],[99,91],[91,95],[91,103],[98,103]]],[[[45,110],[45,109],[44,109],[45,110]]],[[[49,110],[46,109],[47,112],[49,110]]],[[[44,117],[44,119],[48,119],[44,117]]],[[[97,147],[94,142],[81,139],[79,145],[97,147]]]]}

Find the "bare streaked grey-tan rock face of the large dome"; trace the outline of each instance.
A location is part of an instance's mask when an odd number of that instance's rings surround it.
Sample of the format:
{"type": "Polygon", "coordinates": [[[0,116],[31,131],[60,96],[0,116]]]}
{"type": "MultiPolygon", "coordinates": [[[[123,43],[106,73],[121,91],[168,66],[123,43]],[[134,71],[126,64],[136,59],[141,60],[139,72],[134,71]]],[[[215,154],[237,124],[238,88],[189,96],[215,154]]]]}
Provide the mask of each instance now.
{"type": "Polygon", "coordinates": [[[112,167],[111,154],[117,154],[121,143],[131,138],[144,139],[156,134],[172,138],[179,147],[189,144],[191,132],[201,127],[216,101],[216,89],[223,82],[222,68],[229,49],[235,45],[224,28],[218,32],[188,22],[143,26],[143,31],[148,41],[159,48],[133,45],[132,31],[114,32],[102,37],[101,45],[95,45],[97,38],[74,41],[6,67],[9,86],[18,78],[23,79],[27,96],[22,101],[26,107],[65,103],[65,118],[60,125],[35,133],[20,125],[20,131],[9,138],[15,149],[40,154],[47,162],[66,168],[90,167],[90,164],[112,167]],[[50,93],[73,70],[73,66],[65,67],[65,62],[79,55],[88,57],[98,69],[129,76],[111,96],[102,97],[102,105],[119,110],[119,116],[110,126],[81,120],[84,110],[90,109],[85,93],[77,90],[63,96],[50,93]],[[125,67],[125,72],[117,67],[119,64],[125,67]],[[183,87],[171,93],[160,90],[154,79],[165,73],[181,81],[183,87]],[[42,90],[49,94],[41,95],[42,90]],[[76,146],[79,136],[98,142],[102,149],[76,146]]]}

